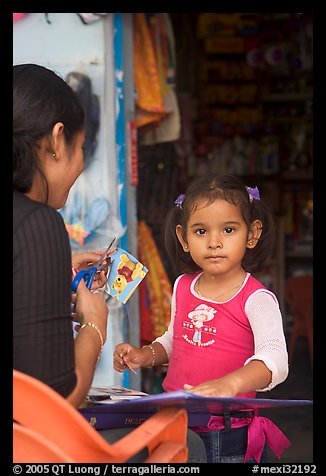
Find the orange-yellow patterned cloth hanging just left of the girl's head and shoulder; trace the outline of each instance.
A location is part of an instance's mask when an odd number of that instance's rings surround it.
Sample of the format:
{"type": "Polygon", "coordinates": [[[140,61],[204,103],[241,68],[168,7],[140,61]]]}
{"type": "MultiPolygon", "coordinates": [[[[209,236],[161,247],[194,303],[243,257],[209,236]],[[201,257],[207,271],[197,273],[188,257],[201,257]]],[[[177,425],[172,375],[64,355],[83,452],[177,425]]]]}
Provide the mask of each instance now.
{"type": "MultiPolygon", "coordinates": [[[[138,243],[139,243],[139,259],[146,264],[149,273],[147,279],[143,281],[146,285],[146,293],[144,293],[144,284],[141,289],[141,309],[150,308],[150,323],[147,322],[145,328],[145,336],[153,335],[158,337],[166,330],[170,322],[171,313],[171,283],[164,269],[159,250],[153,239],[150,228],[145,222],[138,224],[138,243]],[[147,296],[146,296],[147,294],[147,296]],[[148,297],[148,299],[147,299],[148,297]],[[148,327],[151,326],[151,329],[148,327]]],[[[147,313],[148,316],[148,313],[147,313]]],[[[141,329],[143,328],[141,313],[141,329]]],[[[142,340],[146,337],[141,335],[142,340]]]]}

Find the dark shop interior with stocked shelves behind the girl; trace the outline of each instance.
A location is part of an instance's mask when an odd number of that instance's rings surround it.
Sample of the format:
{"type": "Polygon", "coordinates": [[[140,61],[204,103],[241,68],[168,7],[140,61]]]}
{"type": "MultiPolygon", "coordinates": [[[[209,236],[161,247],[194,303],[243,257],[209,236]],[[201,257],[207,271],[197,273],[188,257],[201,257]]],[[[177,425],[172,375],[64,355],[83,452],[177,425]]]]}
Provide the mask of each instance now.
{"type": "MultiPolygon", "coordinates": [[[[279,298],[288,342],[294,333],[298,336],[287,381],[258,395],[312,399],[312,283],[295,283],[298,293],[305,293],[304,317],[293,313],[287,299],[288,278],[313,275],[312,15],[170,15],[181,136],[176,142],[142,144],[147,132],[143,139],[139,129],[138,219],[151,230],[173,283],[178,271],[164,252],[163,223],[189,181],[220,172],[258,186],[277,229],[275,256],[258,277],[279,298]]],[[[165,318],[163,305],[160,318],[165,318]]],[[[143,322],[142,343],[154,336],[143,322]]],[[[162,391],[165,370],[143,370],[142,389],[162,391]]],[[[313,461],[311,408],[262,414],[292,441],[282,461],[313,461]]],[[[278,461],[273,458],[271,454],[270,460],[278,461]]]]}

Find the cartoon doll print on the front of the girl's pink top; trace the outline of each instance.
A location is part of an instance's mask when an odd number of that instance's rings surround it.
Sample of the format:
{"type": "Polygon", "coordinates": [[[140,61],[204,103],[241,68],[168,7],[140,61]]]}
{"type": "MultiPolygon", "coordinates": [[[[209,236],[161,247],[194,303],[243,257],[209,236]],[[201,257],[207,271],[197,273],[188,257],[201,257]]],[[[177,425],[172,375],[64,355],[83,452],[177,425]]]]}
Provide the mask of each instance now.
{"type": "Polygon", "coordinates": [[[216,309],[206,304],[200,304],[194,311],[189,312],[189,321],[183,323],[186,333],[182,337],[185,341],[198,347],[214,344],[215,339],[212,336],[216,335],[216,327],[208,324],[208,322],[214,319],[216,312],[216,309]],[[203,334],[208,338],[204,342],[203,334]]]}

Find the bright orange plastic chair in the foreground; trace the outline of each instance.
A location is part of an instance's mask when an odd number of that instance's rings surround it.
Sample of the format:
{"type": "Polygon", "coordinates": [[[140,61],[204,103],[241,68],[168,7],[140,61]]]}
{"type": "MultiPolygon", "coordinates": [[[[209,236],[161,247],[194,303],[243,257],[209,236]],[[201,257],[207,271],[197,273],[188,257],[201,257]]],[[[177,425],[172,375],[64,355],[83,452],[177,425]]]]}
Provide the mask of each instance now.
{"type": "MultiPolygon", "coordinates": [[[[186,410],[160,409],[119,441],[109,444],[61,395],[17,370],[13,371],[13,419],[49,442],[52,450],[59,450],[70,463],[124,463],[144,448],[148,449],[144,463],[185,463],[188,457],[186,410]]],[[[16,440],[17,435],[16,430],[15,463],[24,462],[21,458],[25,454],[17,449],[21,441],[16,440]]],[[[43,452],[43,462],[52,462],[52,457],[43,452]]]]}

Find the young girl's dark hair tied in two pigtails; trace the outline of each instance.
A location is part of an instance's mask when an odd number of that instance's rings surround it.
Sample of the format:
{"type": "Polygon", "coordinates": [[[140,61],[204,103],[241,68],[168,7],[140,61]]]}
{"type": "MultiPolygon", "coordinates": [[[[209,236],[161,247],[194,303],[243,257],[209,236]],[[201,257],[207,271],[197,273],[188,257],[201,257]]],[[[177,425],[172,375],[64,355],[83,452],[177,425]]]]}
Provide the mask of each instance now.
{"type": "Polygon", "coordinates": [[[190,256],[185,253],[176,235],[176,226],[181,225],[183,238],[186,240],[186,229],[190,215],[198,204],[210,205],[217,199],[226,200],[240,207],[241,214],[247,224],[260,220],[263,225],[261,236],[253,249],[246,250],[242,260],[243,268],[257,273],[265,268],[274,252],[275,233],[273,214],[262,200],[250,200],[245,185],[233,175],[209,175],[195,179],[187,188],[181,206],[175,205],[165,220],[165,246],[169,258],[181,273],[201,271],[190,256]]]}

